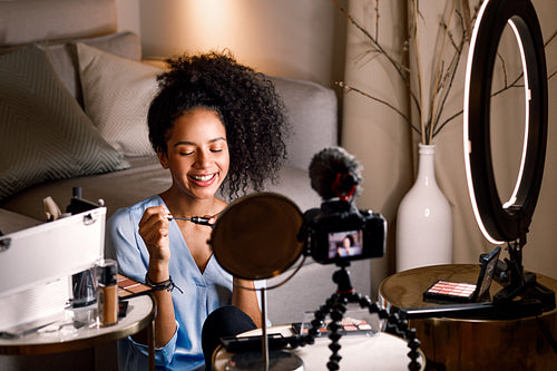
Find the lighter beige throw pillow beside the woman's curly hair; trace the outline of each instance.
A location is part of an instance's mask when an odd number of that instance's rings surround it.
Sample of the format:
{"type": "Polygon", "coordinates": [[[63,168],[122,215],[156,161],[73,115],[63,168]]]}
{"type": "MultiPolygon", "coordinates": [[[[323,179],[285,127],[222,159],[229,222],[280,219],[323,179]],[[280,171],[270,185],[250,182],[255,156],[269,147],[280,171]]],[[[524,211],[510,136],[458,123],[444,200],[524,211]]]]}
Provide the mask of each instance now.
{"type": "Polygon", "coordinates": [[[100,135],[126,156],[153,155],[147,111],[162,70],[77,45],[84,107],[100,135]]]}

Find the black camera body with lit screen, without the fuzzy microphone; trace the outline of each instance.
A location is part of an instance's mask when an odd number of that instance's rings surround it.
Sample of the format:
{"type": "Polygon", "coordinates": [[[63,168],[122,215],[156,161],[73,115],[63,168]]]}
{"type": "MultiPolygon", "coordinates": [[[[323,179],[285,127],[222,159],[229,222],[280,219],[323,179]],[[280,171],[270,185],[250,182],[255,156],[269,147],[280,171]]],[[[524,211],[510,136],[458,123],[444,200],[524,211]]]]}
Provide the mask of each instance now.
{"type": "Polygon", "coordinates": [[[381,257],[385,251],[387,222],[372,211],[359,211],[346,201],[325,201],[304,214],[305,248],[317,263],[381,257]]]}

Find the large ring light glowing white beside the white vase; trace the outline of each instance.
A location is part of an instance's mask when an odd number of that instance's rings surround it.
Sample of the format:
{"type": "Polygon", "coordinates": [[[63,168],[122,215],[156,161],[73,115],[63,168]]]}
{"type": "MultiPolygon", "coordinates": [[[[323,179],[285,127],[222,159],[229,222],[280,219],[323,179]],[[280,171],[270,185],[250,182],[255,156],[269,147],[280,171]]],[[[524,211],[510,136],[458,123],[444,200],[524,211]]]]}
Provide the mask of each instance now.
{"type": "Polygon", "coordinates": [[[536,207],[547,141],[547,70],[544,40],[529,0],[486,0],[476,20],[466,71],[465,164],[476,221],[494,244],[526,236],[536,207]],[[490,97],[499,39],[506,25],[517,39],[524,69],[526,117],[519,175],[501,203],[490,146],[490,97]]]}

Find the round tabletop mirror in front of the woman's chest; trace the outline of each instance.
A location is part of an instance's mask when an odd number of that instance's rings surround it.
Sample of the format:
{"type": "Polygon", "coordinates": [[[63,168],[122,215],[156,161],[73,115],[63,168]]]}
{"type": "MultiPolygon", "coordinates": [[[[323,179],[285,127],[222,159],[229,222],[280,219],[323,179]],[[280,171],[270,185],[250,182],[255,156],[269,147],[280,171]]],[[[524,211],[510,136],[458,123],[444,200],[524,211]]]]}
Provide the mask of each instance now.
{"type": "Polygon", "coordinates": [[[286,271],[302,255],[303,216],[289,198],[255,193],[231,203],[217,218],[211,245],[218,264],[236,277],[264,280],[286,271]]]}

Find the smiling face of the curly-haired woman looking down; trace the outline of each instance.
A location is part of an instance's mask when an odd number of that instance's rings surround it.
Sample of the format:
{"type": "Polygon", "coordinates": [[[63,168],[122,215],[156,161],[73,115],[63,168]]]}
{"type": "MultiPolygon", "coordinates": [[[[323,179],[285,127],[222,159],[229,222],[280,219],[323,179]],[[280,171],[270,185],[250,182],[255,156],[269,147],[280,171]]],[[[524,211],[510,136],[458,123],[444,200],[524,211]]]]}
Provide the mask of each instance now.
{"type": "Polygon", "coordinates": [[[226,130],[219,116],[205,108],[186,111],[174,123],[159,152],[160,164],[170,169],[173,187],[193,198],[214,197],[228,174],[229,154],[226,130]]]}

